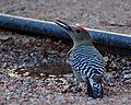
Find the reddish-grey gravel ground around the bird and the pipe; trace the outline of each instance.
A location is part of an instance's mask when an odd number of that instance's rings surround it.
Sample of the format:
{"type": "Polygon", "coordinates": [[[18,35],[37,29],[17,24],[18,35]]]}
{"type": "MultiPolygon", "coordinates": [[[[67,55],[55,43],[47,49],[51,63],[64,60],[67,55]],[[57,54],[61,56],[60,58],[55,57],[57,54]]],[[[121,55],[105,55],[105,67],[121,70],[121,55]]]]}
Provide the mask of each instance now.
{"type": "MultiPolygon", "coordinates": [[[[0,0],[0,13],[48,21],[60,19],[71,24],[131,34],[130,0],[0,0]]],[[[0,105],[88,105],[88,102],[94,105],[86,95],[86,85],[76,84],[71,69],[66,68],[66,54],[70,48],[71,45],[59,39],[0,30],[0,105]],[[44,75],[45,70],[55,72],[57,69],[61,70],[59,73],[68,71],[59,77],[44,75]]],[[[131,85],[117,84],[116,77],[122,70],[131,71],[131,57],[108,52],[103,56],[108,62],[109,79],[115,82],[115,86],[105,88],[103,104],[130,105],[131,85]]]]}

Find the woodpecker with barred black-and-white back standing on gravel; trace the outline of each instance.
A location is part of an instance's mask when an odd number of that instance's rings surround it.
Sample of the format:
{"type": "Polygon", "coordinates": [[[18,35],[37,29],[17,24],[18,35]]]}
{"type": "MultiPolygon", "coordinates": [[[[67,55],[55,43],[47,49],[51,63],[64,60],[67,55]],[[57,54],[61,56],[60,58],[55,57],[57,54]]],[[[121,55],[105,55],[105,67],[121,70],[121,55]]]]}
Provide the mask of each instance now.
{"type": "Polygon", "coordinates": [[[74,77],[79,82],[87,84],[88,97],[103,98],[102,81],[105,77],[105,61],[93,45],[93,37],[80,24],[69,25],[60,20],[55,23],[63,28],[73,40],[73,47],[67,55],[67,62],[71,66],[74,77]]]}

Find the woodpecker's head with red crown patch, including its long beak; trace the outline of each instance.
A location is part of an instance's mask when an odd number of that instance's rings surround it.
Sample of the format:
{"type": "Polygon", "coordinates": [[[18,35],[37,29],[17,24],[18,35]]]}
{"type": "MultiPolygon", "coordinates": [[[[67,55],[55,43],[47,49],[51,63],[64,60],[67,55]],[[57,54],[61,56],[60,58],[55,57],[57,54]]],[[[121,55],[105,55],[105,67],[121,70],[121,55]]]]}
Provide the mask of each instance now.
{"type": "Polygon", "coordinates": [[[70,37],[73,39],[74,43],[92,44],[92,36],[85,30],[84,26],[82,26],[80,24],[70,26],[69,24],[67,24],[60,20],[57,20],[56,23],[70,35],[70,37]]]}

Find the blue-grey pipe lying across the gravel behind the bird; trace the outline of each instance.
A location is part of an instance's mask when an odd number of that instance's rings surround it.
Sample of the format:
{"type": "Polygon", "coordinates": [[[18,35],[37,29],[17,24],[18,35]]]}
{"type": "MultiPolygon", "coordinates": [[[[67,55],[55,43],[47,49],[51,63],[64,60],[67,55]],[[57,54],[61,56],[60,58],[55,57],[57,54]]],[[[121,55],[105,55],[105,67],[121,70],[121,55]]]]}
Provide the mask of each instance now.
{"type": "MultiPolygon", "coordinates": [[[[21,30],[24,32],[47,34],[51,36],[56,35],[58,37],[70,39],[70,36],[53,22],[39,21],[0,13],[0,26],[21,30]]],[[[86,30],[93,36],[94,42],[98,44],[131,49],[131,35],[92,28],[86,30]]]]}

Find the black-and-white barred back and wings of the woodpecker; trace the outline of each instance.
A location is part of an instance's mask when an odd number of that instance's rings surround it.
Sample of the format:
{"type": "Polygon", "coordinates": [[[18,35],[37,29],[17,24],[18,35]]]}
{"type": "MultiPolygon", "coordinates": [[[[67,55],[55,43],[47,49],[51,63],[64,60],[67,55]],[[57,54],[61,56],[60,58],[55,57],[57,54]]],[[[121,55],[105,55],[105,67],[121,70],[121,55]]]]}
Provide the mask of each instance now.
{"type": "Polygon", "coordinates": [[[83,81],[94,74],[105,74],[105,62],[94,46],[79,45],[69,54],[69,63],[81,73],[83,81]]]}

